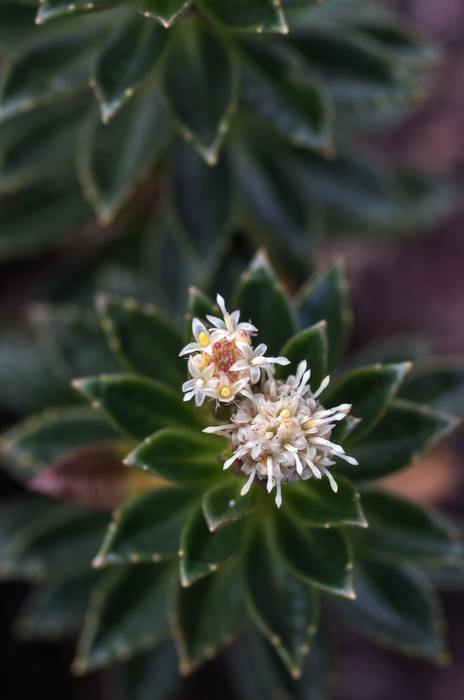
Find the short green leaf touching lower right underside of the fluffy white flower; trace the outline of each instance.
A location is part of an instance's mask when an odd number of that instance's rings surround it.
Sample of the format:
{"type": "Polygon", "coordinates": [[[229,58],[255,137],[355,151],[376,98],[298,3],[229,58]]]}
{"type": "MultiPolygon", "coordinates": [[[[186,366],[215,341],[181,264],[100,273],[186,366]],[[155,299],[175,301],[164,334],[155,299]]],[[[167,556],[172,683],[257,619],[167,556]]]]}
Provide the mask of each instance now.
{"type": "Polygon", "coordinates": [[[305,525],[311,527],[338,527],[354,525],[367,527],[359,503],[359,493],[348,479],[333,475],[338,485],[332,491],[328,479],[308,479],[285,488],[285,507],[296,513],[305,525]]]}

